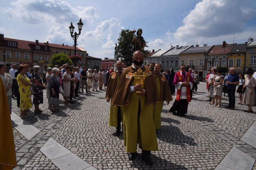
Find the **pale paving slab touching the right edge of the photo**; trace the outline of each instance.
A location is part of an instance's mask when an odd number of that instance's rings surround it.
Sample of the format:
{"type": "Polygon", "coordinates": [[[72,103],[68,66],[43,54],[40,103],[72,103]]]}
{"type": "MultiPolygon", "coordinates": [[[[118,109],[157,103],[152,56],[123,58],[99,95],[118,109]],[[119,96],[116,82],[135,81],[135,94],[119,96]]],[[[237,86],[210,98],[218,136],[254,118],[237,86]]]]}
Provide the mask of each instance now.
{"type": "Polygon", "coordinates": [[[251,127],[245,132],[240,140],[256,148],[256,121],[251,125],[251,127]]]}

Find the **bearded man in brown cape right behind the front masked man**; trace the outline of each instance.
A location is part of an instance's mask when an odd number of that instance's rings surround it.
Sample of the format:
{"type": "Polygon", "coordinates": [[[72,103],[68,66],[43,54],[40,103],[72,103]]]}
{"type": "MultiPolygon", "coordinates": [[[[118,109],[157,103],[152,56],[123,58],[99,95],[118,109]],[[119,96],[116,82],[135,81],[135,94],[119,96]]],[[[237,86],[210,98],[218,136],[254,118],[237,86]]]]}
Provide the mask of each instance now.
{"type": "Polygon", "coordinates": [[[160,63],[157,63],[154,66],[154,73],[157,84],[157,92],[159,96],[159,103],[156,103],[154,106],[154,123],[156,129],[161,129],[161,112],[163,108],[163,101],[167,101],[167,105],[172,101],[172,94],[167,83],[165,75],[161,74],[162,66],[160,63]]]}

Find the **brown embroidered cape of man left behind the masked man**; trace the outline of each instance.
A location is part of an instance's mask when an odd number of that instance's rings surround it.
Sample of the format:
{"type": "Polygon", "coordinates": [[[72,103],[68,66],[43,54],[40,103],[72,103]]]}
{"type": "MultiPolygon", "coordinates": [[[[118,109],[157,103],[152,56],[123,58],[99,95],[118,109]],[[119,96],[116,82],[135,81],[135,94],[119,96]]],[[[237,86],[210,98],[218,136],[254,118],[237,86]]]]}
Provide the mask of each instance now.
{"type": "Polygon", "coordinates": [[[109,82],[106,90],[106,98],[113,99],[115,90],[118,84],[118,78],[121,77],[122,72],[117,73],[116,71],[112,72],[109,77],[109,82]],[[113,76],[112,76],[113,75],[113,76]],[[113,79],[112,79],[113,78],[113,79]]]}

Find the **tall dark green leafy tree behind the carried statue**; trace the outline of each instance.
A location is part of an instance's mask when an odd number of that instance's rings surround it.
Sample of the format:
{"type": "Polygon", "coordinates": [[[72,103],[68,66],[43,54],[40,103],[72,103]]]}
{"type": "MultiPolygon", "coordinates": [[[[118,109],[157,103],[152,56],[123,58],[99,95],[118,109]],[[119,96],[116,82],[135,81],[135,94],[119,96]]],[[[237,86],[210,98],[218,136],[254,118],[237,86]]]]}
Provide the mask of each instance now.
{"type": "MultiPolygon", "coordinates": [[[[122,30],[119,33],[119,38],[118,40],[118,44],[120,46],[119,48],[119,53],[118,53],[118,57],[121,58],[121,61],[123,63],[127,63],[128,66],[131,65],[132,63],[132,54],[133,54],[133,44],[132,44],[132,39],[133,39],[133,34],[130,30],[122,30]]],[[[147,42],[145,42],[147,44],[147,42]]],[[[148,47],[147,45],[145,45],[145,47],[148,47]]],[[[149,50],[144,50],[144,57],[148,56],[148,54],[151,51],[149,50]]]]}

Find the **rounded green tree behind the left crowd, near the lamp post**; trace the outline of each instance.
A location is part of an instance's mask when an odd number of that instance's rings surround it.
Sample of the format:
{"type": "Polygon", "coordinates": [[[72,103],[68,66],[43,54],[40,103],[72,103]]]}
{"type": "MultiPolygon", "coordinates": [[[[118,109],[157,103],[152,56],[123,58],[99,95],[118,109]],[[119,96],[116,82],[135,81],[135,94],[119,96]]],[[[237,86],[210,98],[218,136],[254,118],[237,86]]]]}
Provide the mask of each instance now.
{"type": "Polygon", "coordinates": [[[53,57],[51,58],[51,61],[48,67],[53,68],[55,65],[62,66],[63,64],[66,64],[66,63],[68,63],[70,66],[73,64],[67,54],[64,54],[64,53],[54,54],[53,57]]]}

